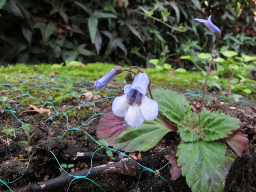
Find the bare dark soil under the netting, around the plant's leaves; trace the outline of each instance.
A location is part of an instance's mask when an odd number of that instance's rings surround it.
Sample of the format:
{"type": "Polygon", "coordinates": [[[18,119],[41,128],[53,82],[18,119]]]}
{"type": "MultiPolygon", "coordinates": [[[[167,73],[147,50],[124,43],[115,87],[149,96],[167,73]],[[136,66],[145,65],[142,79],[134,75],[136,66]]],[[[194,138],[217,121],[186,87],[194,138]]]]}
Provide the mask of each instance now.
{"type": "MultiPolygon", "coordinates": [[[[189,92],[190,90],[182,89],[177,91],[189,92]]],[[[228,101],[222,103],[218,99],[218,94],[213,96],[214,99],[211,100],[210,105],[206,108],[211,111],[218,110],[230,116],[234,116],[240,120],[241,125],[248,123],[256,114],[255,102],[228,101]],[[230,107],[235,108],[230,109],[230,107]]],[[[108,99],[97,102],[94,109],[97,109],[98,113],[104,112],[107,107],[111,106],[112,100],[113,99],[108,99]]],[[[194,105],[195,108],[198,108],[200,98],[190,99],[189,102],[194,105]]],[[[13,102],[10,108],[16,107],[17,104],[18,103],[13,102]]],[[[78,106],[78,103],[74,99],[65,99],[60,105],[54,107],[61,112],[63,106],[74,108],[78,106]]],[[[87,108],[87,111],[90,112],[92,111],[91,107],[92,106],[85,106],[84,108],[87,108]]],[[[15,109],[15,114],[17,115],[28,109],[27,106],[20,105],[19,108],[15,109]]],[[[90,156],[88,158],[78,158],[76,156],[77,152],[95,152],[98,148],[95,142],[90,139],[85,132],[78,130],[68,131],[60,140],[60,136],[67,131],[67,126],[69,128],[79,127],[92,116],[89,112],[88,114],[79,113],[79,110],[77,109],[76,115],[70,116],[68,120],[64,115],[58,115],[48,119],[47,114],[21,114],[19,119],[23,123],[32,125],[30,134],[35,133],[30,143],[30,145],[33,146],[33,149],[30,152],[32,157],[30,162],[28,162],[29,157],[25,150],[25,144],[19,142],[28,140],[21,129],[16,131],[16,137],[9,137],[10,145],[8,146],[3,144],[5,142],[5,137],[0,138],[0,179],[5,182],[12,182],[22,176],[18,180],[8,184],[10,188],[14,189],[60,176],[61,171],[58,162],[67,165],[74,164],[75,166],[72,168],[65,168],[68,172],[71,172],[71,169],[77,172],[90,167],[90,156]],[[45,121],[46,119],[48,120],[45,121]],[[58,162],[50,151],[55,155],[58,162]]],[[[99,118],[100,116],[97,116],[97,118],[93,119],[90,124],[81,127],[82,130],[89,133],[96,140],[95,131],[99,118]]],[[[5,112],[0,113],[0,127],[1,126],[17,129],[21,126],[21,123],[10,112],[5,112]]],[[[242,157],[237,157],[230,169],[224,189],[224,191],[227,192],[256,191],[256,122],[254,121],[246,126],[242,132],[248,134],[249,144],[244,149],[242,157]]],[[[0,135],[4,135],[4,133],[0,132],[0,135]]],[[[175,133],[168,133],[155,148],[146,152],[141,152],[142,161],[140,161],[140,164],[154,171],[163,167],[168,163],[167,160],[165,160],[164,155],[173,154],[177,149],[179,141],[175,138],[175,133]]],[[[104,150],[97,152],[99,154],[105,154],[104,150]]],[[[116,160],[112,161],[119,161],[118,154],[114,153],[114,156],[116,157],[116,160]]],[[[109,161],[111,160],[108,157],[106,158],[106,156],[103,156],[102,158],[95,157],[92,160],[92,167],[107,164],[109,161]]],[[[138,192],[171,191],[168,184],[172,187],[174,192],[191,191],[184,177],[180,176],[175,181],[170,179],[171,174],[169,168],[166,166],[160,171],[160,175],[165,178],[167,182],[156,174],[148,171],[143,171],[141,176],[138,173],[132,176],[122,174],[99,174],[92,180],[100,185],[105,191],[132,192],[136,189],[137,184],[138,187],[136,191],[138,192]]],[[[53,191],[67,191],[68,185],[69,183],[66,183],[64,186],[58,186],[58,188],[53,191]]],[[[0,184],[0,190],[8,190],[8,188],[5,185],[0,184]]],[[[97,192],[102,191],[102,189],[90,180],[81,179],[75,180],[70,185],[68,191],[97,192]]]]}

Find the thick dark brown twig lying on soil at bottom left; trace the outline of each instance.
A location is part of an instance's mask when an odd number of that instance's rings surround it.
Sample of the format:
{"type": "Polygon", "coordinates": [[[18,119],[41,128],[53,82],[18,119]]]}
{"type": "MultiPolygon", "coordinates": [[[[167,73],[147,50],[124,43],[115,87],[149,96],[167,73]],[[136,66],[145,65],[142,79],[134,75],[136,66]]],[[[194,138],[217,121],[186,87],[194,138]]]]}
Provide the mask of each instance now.
{"type": "MultiPolygon", "coordinates": [[[[72,173],[73,177],[68,175],[66,172],[61,172],[59,177],[49,179],[46,181],[40,181],[25,187],[12,189],[13,192],[41,192],[41,191],[54,191],[61,187],[64,187],[70,183],[74,176],[85,176],[91,179],[97,175],[102,174],[122,174],[122,175],[131,175],[136,176],[140,170],[137,162],[132,158],[124,158],[116,163],[110,163],[105,165],[100,165],[93,167],[92,169],[86,169],[83,171],[72,173]]],[[[77,180],[74,180],[77,181],[77,180]]],[[[5,190],[2,192],[9,192],[10,190],[5,190]]]]}

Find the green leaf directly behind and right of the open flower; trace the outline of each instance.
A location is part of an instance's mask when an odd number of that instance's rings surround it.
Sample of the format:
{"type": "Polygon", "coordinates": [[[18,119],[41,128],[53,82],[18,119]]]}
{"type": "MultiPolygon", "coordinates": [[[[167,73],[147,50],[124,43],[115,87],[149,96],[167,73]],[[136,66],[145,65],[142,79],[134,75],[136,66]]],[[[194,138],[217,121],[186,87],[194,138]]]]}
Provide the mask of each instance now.
{"type": "Polygon", "coordinates": [[[191,105],[178,95],[177,92],[164,89],[155,89],[152,91],[154,100],[158,103],[159,111],[171,122],[179,124],[184,116],[190,111],[191,105]]]}

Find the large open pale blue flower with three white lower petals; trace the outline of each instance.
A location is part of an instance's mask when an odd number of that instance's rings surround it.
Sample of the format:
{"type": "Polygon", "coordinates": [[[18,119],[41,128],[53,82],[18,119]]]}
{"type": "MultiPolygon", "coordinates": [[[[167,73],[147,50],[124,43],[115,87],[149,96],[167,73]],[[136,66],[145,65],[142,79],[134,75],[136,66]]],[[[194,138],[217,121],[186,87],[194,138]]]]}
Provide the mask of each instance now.
{"type": "Polygon", "coordinates": [[[146,73],[134,77],[132,85],[125,85],[124,95],[116,97],[112,111],[116,116],[123,117],[132,127],[138,127],[147,121],[154,120],[158,115],[158,104],[146,96],[149,80],[146,73]]]}

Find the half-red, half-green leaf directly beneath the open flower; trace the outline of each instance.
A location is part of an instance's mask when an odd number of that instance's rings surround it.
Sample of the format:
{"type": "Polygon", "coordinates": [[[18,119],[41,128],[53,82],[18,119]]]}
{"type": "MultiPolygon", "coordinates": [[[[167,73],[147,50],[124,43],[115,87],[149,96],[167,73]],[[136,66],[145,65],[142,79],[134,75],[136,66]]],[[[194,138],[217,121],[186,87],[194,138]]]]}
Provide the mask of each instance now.
{"type": "Polygon", "coordinates": [[[147,151],[168,132],[176,131],[158,115],[153,121],[144,121],[133,128],[126,124],[124,117],[115,116],[111,108],[106,109],[97,127],[96,136],[108,141],[110,146],[126,152],[147,151]]]}

